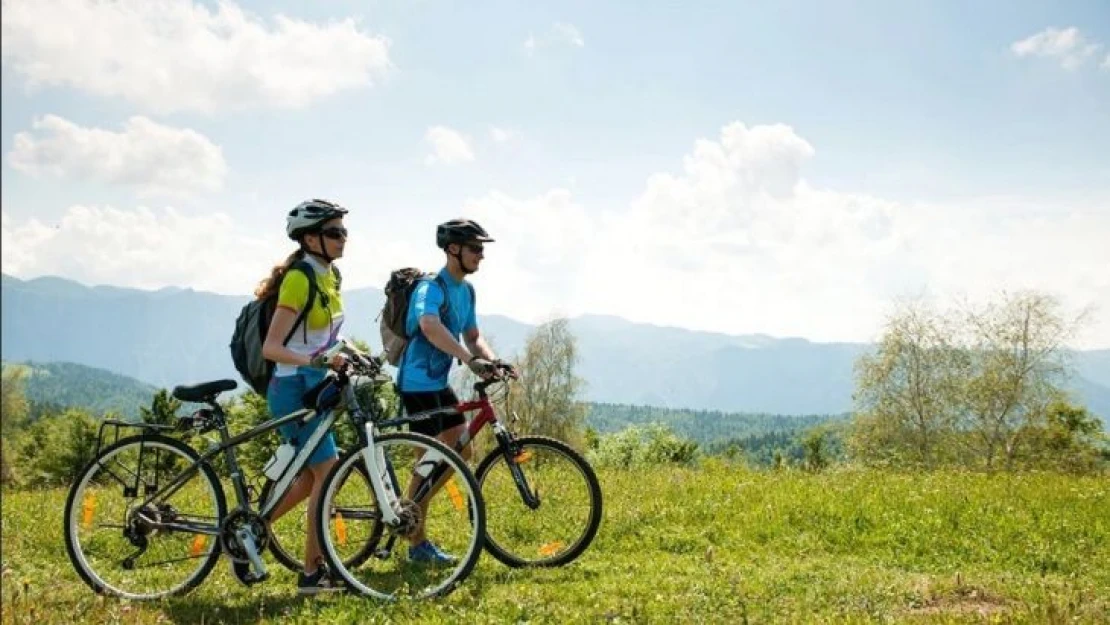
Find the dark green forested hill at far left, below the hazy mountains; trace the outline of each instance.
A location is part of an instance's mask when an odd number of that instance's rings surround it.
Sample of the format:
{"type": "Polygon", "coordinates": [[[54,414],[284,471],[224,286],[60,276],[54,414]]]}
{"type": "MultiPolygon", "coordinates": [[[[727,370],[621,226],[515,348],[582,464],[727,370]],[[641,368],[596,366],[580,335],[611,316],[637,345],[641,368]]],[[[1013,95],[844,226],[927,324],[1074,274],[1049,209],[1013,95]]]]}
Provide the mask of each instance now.
{"type": "Polygon", "coordinates": [[[115,413],[137,419],[158,391],[132,377],[69,362],[3,363],[3,372],[24,372],[27,399],[36,404],[82,407],[97,415],[115,413]]]}

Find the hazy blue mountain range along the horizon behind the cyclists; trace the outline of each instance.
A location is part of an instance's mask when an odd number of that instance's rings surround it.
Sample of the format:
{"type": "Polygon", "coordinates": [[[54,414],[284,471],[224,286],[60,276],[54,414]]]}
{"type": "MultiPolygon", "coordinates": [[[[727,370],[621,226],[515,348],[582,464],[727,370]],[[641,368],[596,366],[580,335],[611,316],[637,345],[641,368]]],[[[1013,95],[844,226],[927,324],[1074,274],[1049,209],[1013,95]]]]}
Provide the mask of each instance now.
{"type": "MultiPolygon", "coordinates": [[[[85,286],[61,278],[4,274],[0,293],[4,361],[73,362],[154,386],[238,379],[228,343],[248,296],[191,289],[85,286]]],[[[380,346],[379,289],[344,293],[344,334],[380,346]]],[[[503,356],[532,325],[480,315],[503,356]]],[[[593,402],[771,414],[840,414],[851,409],[852,365],[871,345],[763,334],[718,334],[634,323],[571,320],[578,374],[593,402]]],[[[1076,399],[1110,416],[1110,350],[1074,352],[1076,399]]]]}

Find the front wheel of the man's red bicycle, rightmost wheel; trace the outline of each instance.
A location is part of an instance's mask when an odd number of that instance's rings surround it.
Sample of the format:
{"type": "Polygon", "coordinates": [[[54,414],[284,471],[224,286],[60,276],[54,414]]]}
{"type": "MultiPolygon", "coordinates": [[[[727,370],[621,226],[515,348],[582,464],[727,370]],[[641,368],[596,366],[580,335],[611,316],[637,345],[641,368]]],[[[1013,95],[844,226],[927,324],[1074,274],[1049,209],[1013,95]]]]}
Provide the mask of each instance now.
{"type": "Polygon", "coordinates": [[[593,467],[562,441],[516,440],[515,457],[500,446],[475,473],[486,502],[485,547],[508,566],[561,566],[582,555],[602,522],[602,487],[593,467]],[[528,505],[513,476],[536,497],[528,505]]]}

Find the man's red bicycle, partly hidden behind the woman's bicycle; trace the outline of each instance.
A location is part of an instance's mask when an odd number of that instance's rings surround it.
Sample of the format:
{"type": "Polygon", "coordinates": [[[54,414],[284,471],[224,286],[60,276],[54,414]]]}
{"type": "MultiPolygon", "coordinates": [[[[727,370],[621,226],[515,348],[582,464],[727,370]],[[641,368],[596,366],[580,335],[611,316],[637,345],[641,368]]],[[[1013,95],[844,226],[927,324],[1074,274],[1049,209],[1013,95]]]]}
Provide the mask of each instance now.
{"type": "MultiPolygon", "coordinates": [[[[497,375],[474,384],[477,399],[455,406],[393,419],[384,419],[384,407],[377,402],[367,402],[372,405],[364,407],[381,430],[400,429],[448,411],[464,415],[476,412],[467,420],[467,427],[455,448],[462,451],[483,427],[492,429],[496,445],[477,463],[474,472],[486,506],[486,551],[512,567],[561,566],[582,555],[597,535],[602,522],[602,487],[586,458],[568,444],[549,436],[518,436],[497,417],[490,389],[501,385],[507,393],[511,371],[498,363],[497,375]]],[[[428,462],[435,463],[435,458],[424,458],[418,466],[428,462]]],[[[369,488],[370,478],[362,463],[355,463],[354,467],[342,478],[359,481],[355,488],[362,484],[369,488]]],[[[428,477],[438,480],[442,475],[428,477]]],[[[263,500],[270,488],[272,484],[266,482],[262,488],[263,500]]],[[[450,480],[444,490],[446,500],[457,505],[450,480]]],[[[380,515],[367,514],[360,506],[344,510],[343,505],[336,505],[331,514],[331,531],[346,547],[343,561],[347,568],[360,566],[375,553],[389,553],[393,546],[389,542],[395,537],[383,533],[380,515]],[[386,543],[381,544],[382,541],[386,543]]],[[[299,553],[296,550],[303,551],[300,544],[305,535],[303,518],[291,512],[271,533],[271,553],[291,571],[300,571],[302,566],[293,554],[299,553]],[[297,543],[295,548],[294,543],[297,543]]]]}

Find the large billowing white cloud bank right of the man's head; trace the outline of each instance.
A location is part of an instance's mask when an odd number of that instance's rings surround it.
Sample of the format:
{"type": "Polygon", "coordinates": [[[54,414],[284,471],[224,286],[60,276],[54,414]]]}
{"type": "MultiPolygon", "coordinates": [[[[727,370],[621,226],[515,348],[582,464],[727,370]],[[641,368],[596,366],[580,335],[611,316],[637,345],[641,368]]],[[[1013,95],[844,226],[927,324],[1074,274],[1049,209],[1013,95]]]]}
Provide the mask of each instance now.
{"type": "MultiPolygon", "coordinates": [[[[813,188],[800,175],[813,154],[788,127],[734,123],[617,210],[562,189],[471,200],[464,212],[497,239],[485,310],[829,341],[875,339],[894,299],[926,292],[1030,288],[1110,311],[1110,204],[901,204],[813,188]]],[[[1089,339],[1110,345],[1099,319],[1089,339]]]]}

